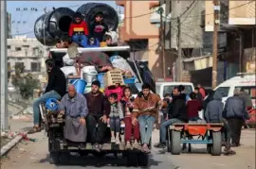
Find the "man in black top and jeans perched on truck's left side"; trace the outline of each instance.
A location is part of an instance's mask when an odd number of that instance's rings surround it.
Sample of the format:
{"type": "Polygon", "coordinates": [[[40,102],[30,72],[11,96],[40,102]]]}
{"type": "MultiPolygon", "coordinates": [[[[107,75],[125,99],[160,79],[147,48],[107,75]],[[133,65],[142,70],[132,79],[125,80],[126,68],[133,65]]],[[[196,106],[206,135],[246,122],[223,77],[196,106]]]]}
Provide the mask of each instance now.
{"type": "Polygon", "coordinates": [[[36,98],[33,102],[34,127],[28,133],[35,133],[41,131],[40,127],[40,109],[39,105],[46,102],[48,98],[61,99],[66,93],[66,80],[63,71],[55,66],[54,59],[46,59],[46,66],[48,71],[48,84],[45,93],[36,98]]]}

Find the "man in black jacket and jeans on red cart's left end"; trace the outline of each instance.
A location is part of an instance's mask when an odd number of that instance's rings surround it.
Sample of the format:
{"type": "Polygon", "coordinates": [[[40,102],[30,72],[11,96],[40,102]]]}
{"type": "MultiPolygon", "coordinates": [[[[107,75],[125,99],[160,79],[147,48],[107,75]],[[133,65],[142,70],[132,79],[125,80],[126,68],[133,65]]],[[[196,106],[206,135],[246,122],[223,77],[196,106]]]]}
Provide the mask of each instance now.
{"type": "Polygon", "coordinates": [[[186,95],[178,92],[178,89],[174,89],[174,96],[171,106],[169,108],[170,120],[165,121],[160,126],[160,142],[161,147],[166,145],[166,133],[167,127],[175,123],[186,123],[188,121],[187,108],[186,108],[186,95]]]}

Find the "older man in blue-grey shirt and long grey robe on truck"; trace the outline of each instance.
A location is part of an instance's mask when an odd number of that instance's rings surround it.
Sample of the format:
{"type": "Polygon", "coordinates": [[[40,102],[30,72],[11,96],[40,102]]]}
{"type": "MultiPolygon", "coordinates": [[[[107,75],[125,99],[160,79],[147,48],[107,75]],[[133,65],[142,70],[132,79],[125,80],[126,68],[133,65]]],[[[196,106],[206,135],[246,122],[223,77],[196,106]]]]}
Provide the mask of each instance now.
{"type": "MultiPolygon", "coordinates": [[[[79,143],[79,147],[83,148],[87,135],[85,118],[88,108],[86,98],[76,92],[74,85],[68,86],[68,93],[62,98],[60,110],[60,116],[65,115],[64,139],[79,143]]],[[[64,145],[66,144],[64,141],[64,145]]]]}

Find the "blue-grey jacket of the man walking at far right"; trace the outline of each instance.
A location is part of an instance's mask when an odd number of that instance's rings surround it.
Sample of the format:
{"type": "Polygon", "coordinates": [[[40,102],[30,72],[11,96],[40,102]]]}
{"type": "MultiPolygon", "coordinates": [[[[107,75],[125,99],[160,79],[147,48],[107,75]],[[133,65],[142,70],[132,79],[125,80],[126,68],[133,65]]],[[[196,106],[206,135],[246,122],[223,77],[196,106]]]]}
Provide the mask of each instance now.
{"type": "Polygon", "coordinates": [[[229,97],[223,110],[223,117],[249,119],[246,103],[238,95],[229,97]]]}

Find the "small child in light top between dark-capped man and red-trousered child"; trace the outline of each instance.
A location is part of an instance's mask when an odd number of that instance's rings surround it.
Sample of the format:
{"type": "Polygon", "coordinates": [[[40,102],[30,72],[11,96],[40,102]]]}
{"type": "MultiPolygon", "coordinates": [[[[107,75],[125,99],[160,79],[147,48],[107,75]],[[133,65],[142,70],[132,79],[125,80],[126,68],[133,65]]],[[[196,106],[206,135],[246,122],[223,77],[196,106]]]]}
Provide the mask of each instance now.
{"type": "Polygon", "coordinates": [[[118,94],[117,93],[111,93],[108,96],[108,101],[111,104],[111,106],[110,106],[111,109],[110,109],[110,113],[109,113],[111,143],[119,144],[120,143],[120,141],[119,141],[120,124],[124,124],[122,106],[118,102],[118,94]]]}

